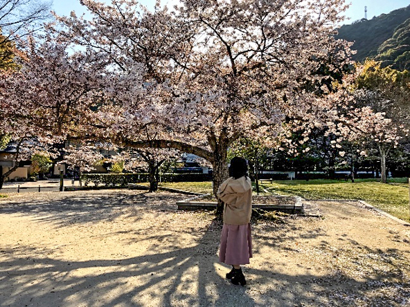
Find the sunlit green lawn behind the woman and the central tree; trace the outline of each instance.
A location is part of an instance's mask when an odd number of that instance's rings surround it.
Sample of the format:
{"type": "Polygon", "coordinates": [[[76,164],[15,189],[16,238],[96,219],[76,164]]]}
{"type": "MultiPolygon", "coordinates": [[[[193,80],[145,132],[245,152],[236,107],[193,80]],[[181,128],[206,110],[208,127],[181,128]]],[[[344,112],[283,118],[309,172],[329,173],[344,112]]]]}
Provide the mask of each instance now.
{"type": "MultiPolygon", "coordinates": [[[[409,184],[407,178],[389,180],[383,184],[375,180],[358,179],[355,183],[338,180],[278,180],[260,186],[272,194],[301,196],[308,199],[359,199],[389,214],[410,221],[409,184]]],[[[212,193],[212,184],[162,183],[164,187],[197,193],[212,193]]]]}

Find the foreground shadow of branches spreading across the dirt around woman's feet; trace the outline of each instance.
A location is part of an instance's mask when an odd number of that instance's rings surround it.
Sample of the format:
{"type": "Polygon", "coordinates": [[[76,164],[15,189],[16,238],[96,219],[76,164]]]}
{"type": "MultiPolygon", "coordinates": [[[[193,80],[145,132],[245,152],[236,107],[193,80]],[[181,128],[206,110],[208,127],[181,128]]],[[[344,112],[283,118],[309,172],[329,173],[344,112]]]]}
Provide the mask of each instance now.
{"type": "MultiPolygon", "coordinates": [[[[219,231],[209,230],[202,240],[211,236],[217,242],[218,235],[219,231]]],[[[199,242],[141,257],[64,261],[45,255],[27,257],[30,248],[19,253],[1,250],[10,256],[0,264],[0,306],[382,306],[383,302],[406,306],[410,302],[409,283],[391,279],[401,268],[361,280],[341,272],[318,277],[249,268],[248,286],[241,287],[224,279],[229,268],[217,263],[216,252],[217,243],[210,248],[199,242]],[[386,289],[389,294],[384,294],[386,289]],[[395,297],[390,296],[392,291],[395,297]]]]}

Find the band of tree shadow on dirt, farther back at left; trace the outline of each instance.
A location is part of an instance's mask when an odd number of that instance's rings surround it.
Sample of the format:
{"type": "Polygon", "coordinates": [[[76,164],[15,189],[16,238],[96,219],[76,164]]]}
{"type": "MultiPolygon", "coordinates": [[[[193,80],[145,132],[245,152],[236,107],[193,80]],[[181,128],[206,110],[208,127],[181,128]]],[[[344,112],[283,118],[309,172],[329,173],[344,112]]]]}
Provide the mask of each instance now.
{"type": "Polygon", "coordinates": [[[19,198],[0,201],[0,214],[30,214],[38,221],[53,223],[60,227],[113,221],[120,216],[139,221],[142,213],[147,210],[175,210],[176,201],[181,199],[179,194],[149,194],[121,190],[109,191],[109,194],[64,192],[51,194],[51,199],[42,199],[38,194],[34,196],[35,199],[29,202],[21,202],[19,198]]]}

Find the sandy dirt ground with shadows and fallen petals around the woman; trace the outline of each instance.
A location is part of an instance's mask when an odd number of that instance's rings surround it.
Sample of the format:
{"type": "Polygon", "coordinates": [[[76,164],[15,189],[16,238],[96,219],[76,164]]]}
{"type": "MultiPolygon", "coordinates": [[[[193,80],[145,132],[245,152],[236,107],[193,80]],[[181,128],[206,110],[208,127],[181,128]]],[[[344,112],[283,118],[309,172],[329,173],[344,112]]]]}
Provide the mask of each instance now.
{"type": "Polygon", "coordinates": [[[410,227],[359,203],[253,225],[247,286],[222,225],[186,196],[106,190],[0,199],[0,306],[410,306],[410,227]]]}

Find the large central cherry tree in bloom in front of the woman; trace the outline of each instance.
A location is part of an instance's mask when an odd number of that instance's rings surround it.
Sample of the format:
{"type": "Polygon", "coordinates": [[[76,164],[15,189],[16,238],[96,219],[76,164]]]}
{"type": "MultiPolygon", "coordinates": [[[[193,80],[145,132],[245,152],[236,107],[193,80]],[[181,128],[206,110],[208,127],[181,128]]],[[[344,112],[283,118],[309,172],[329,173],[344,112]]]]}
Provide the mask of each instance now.
{"type": "Polygon", "coordinates": [[[213,164],[215,188],[233,141],[274,142],[288,121],[328,125],[347,105],[323,95],[330,76],[314,73],[329,54],[330,71],[349,63],[348,44],[333,37],[344,1],[185,0],[174,12],[159,3],[154,12],[140,12],[136,1],[82,3],[93,19],[58,17],[61,35],[105,55],[121,75],[112,84],[116,105],[100,109],[100,134],[112,129],[118,144],[202,156],[213,164]],[[141,140],[142,126],[162,135],[141,140]]]}

